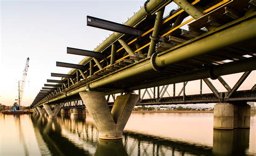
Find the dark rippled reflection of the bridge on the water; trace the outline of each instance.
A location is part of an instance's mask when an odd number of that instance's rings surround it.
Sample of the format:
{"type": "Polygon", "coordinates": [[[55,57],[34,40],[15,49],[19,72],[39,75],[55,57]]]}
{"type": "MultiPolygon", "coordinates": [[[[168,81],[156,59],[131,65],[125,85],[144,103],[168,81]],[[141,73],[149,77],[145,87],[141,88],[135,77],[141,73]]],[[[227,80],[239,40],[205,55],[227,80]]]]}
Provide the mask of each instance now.
{"type": "Polygon", "coordinates": [[[31,119],[38,141],[42,138],[52,155],[244,155],[250,134],[248,129],[214,130],[213,147],[127,131],[123,140],[104,141],[98,139],[96,126],[86,116],[31,119]]]}

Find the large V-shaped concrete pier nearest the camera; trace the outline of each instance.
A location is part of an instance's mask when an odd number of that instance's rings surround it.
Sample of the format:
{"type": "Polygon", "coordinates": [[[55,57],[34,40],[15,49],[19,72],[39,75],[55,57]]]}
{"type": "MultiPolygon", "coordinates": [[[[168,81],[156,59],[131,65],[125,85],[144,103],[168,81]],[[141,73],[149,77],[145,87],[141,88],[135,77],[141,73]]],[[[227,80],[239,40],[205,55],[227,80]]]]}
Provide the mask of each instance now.
{"type": "Polygon", "coordinates": [[[117,96],[112,111],[103,93],[89,91],[79,93],[95,122],[100,139],[121,139],[123,130],[139,96],[126,94],[117,96]]]}

